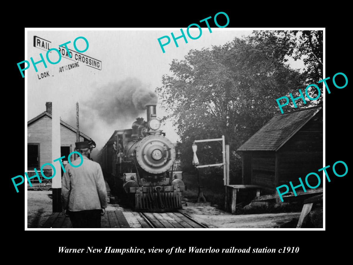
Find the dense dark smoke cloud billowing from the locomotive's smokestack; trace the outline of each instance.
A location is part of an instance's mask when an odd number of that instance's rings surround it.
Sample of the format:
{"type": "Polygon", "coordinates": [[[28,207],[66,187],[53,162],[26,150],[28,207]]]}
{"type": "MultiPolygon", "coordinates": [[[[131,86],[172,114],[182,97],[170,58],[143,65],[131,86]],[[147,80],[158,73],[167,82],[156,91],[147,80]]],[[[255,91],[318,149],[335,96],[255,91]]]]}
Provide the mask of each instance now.
{"type": "Polygon", "coordinates": [[[94,94],[94,98],[84,103],[98,118],[107,123],[118,119],[137,118],[146,105],[156,105],[157,96],[146,89],[136,78],[127,78],[118,83],[109,83],[94,94]]]}

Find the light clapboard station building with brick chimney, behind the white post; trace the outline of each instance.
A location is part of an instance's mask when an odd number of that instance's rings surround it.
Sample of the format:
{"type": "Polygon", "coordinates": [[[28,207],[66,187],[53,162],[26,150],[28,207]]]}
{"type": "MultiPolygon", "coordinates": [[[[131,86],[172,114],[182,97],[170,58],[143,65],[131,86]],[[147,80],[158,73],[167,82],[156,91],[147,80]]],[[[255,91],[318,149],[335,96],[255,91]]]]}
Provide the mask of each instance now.
{"type": "MultiPolygon", "coordinates": [[[[43,164],[53,164],[52,158],[52,102],[46,103],[46,111],[27,122],[27,167],[28,171],[43,164]]],[[[67,164],[67,156],[75,148],[76,128],[60,120],[61,156],[65,155],[63,164],[67,164]]],[[[80,132],[80,141],[89,141],[91,138],[80,132]]],[[[48,173],[52,167],[45,166],[48,173]]],[[[39,170],[38,170],[39,171],[39,170]]],[[[46,174],[45,174],[46,175],[46,174]]],[[[51,176],[51,175],[50,175],[51,176]]]]}

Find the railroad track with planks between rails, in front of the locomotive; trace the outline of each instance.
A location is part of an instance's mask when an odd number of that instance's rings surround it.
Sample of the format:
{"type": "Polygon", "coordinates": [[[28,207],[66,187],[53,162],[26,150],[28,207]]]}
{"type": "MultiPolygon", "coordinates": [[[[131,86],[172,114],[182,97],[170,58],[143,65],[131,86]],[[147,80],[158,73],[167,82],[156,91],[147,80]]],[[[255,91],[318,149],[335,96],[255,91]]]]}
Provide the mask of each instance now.
{"type": "Polygon", "coordinates": [[[188,214],[179,211],[139,212],[139,214],[151,228],[209,228],[206,224],[199,223],[188,214]]]}

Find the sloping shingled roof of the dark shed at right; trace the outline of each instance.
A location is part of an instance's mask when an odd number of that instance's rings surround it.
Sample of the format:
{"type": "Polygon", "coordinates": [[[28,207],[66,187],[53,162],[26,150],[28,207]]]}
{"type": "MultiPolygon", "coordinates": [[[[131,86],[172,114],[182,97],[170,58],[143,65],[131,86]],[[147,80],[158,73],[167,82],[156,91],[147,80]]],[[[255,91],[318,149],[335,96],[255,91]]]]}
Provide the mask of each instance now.
{"type": "Polygon", "coordinates": [[[277,151],[321,109],[311,107],[274,116],[238,151],[277,151]]]}

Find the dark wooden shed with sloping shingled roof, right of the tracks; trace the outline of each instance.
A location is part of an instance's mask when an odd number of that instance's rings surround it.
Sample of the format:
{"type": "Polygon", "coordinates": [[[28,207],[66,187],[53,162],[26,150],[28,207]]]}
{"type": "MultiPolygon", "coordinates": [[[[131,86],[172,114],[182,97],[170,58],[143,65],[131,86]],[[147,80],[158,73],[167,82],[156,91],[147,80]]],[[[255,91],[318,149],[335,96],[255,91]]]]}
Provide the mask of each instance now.
{"type": "MultiPolygon", "coordinates": [[[[300,184],[323,165],[322,106],[278,114],[247,140],[242,154],[242,184],[276,192],[282,184],[300,184]]],[[[309,179],[317,185],[317,179],[309,179]]],[[[322,186],[322,182],[321,182],[322,186]]]]}

